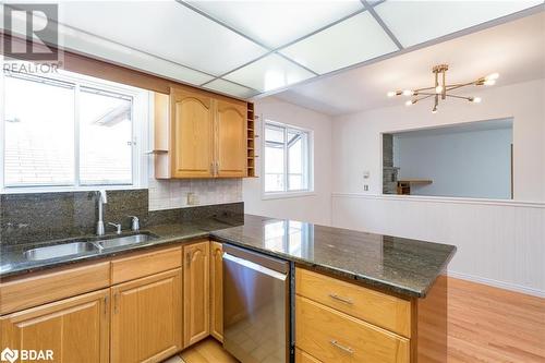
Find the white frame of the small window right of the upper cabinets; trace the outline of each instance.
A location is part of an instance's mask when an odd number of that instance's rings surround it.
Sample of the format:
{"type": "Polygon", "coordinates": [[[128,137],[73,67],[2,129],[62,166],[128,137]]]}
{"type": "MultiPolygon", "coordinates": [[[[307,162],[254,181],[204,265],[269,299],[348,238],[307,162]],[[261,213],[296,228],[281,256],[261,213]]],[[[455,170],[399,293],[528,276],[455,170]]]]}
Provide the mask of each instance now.
{"type": "MultiPolygon", "coordinates": [[[[262,199],[277,199],[277,198],[290,198],[290,197],[301,197],[301,196],[310,196],[315,195],[314,192],[314,131],[304,129],[301,126],[282,123],[278,121],[272,121],[270,119],[263,119],[262,122],[262,199]],[[267,141],[265,137],[265,130],[267,125],[271,125],[274,128],[283,129],[284,142],[283,142],[283,181],[284,181],[284,190],[283,191],[266,191],[265,190],[265,176],[266,176],[266,166],[265,166],[265,149],[267,147],[267,141]],[[288,157],[288,132],[303,132],[306,133],[306,157],[303,157],[303,166],[306,169],[306,178],[307,178],[307,187],[302,190],[289,191],[289,157],[288,157]]],[[[303,173],[304,178],[304,173],[303,173]]]]}

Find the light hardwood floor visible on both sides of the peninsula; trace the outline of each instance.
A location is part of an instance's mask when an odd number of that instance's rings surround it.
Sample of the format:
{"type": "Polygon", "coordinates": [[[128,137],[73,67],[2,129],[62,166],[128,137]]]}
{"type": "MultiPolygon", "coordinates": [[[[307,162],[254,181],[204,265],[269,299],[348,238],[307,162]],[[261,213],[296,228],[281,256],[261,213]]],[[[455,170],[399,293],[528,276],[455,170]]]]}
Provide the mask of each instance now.
{"type": "MultiPolygon", "coordinates": [[[[448,279],[448,363],[545,363],[545,299],[448,279]]],[[[168,363],[237,363],[213,338],[168,363]]],[[[165,363],[167,363],[165,362],[165,363]]]]}

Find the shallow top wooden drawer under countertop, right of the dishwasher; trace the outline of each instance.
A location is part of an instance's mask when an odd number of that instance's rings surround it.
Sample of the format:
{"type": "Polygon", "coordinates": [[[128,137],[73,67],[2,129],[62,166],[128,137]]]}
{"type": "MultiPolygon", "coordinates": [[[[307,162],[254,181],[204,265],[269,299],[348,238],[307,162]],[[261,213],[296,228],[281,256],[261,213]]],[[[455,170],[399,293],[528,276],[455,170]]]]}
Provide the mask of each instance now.
{"type": "Polygon", "coordinates": [[[411,302],[298,268],[295,292],[376,326],[411,336],[411,302]]]}

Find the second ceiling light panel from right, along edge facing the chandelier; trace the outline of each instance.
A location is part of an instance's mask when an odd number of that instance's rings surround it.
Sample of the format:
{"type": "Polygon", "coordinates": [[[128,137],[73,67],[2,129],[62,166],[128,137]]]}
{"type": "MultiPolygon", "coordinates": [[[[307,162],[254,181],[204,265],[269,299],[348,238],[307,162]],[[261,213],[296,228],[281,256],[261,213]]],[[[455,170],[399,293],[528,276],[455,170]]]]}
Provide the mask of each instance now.
{"type": "Polygon", "coordinates": [[[298,41],[280,52],[324,74],[396,50],[396,44],[366,11],[298,41]]]}

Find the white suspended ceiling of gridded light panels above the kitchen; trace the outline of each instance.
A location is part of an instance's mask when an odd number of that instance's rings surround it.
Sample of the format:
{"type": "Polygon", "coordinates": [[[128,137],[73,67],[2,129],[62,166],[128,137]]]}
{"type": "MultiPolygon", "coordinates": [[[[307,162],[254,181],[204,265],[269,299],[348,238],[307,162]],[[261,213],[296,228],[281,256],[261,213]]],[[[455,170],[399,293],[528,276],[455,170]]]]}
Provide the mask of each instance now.
{"type": "MultiPolygon", "coordinates": [[[[351,106],[331,102],[327,92],[318,95],[308,89],[310,81],[316,78],[313,85],[319,88],[326,75],[407,52],[456,32],[471,32],[483,23],[534,12],[543,2],[61,0],[59,43],[241,98],[300,84],[291,95],[337,113],[351,106]]],[[[327,82],[335,87],[338,77],[327,82]]]]}

